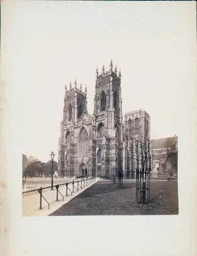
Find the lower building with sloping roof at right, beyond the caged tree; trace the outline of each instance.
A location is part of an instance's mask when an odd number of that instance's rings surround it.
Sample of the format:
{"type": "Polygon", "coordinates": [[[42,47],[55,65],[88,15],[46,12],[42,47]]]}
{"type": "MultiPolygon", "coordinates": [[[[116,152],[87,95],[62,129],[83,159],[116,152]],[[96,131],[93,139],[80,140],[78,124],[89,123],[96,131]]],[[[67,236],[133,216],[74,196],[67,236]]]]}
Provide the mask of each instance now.
{"type": "Polygon", "coordinates": [[[152,141],[152,177],[178,177],[178,137],[152,141]]]}

